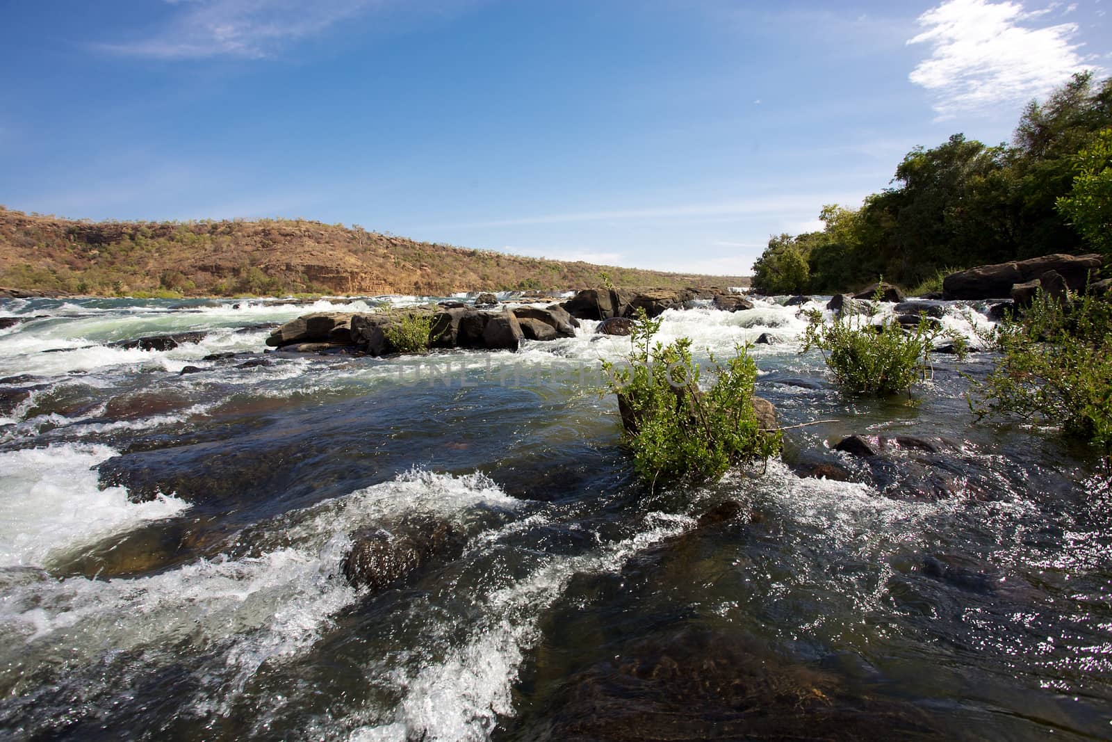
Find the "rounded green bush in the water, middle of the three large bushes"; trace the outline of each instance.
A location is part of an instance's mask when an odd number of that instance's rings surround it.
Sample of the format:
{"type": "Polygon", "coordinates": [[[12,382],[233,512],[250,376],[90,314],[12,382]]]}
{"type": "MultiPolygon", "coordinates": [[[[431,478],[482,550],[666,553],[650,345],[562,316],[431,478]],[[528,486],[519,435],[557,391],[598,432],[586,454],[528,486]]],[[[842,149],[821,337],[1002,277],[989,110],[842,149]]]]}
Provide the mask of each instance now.
{"type": "MultiPolygon", "coordinates": [[[[875,299],[864,316],[847,305],[830,324],[821,311],[812,310],[802,352],[818,348],[835,383],[847,394],[910,396],[915,383],[926,377],[931,349],[943,330],[926,316],[912,328],[902,327],[894,317],[874,325],[876,310],[875,299]]],[[[952,339],[964,347],[962,338],[952,339]]]]}

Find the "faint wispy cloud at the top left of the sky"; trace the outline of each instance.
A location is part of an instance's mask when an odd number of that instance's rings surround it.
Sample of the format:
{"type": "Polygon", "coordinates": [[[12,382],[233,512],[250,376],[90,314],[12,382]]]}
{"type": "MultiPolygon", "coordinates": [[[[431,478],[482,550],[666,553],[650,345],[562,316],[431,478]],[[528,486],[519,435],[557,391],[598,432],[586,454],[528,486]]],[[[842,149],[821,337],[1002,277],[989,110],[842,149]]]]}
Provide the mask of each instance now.
{"type": "Polygon", "coordinates": [[[165,0],[169,19],[142,38],[98,48],[157,59],[261,59],[387,0],[165,0]]]}

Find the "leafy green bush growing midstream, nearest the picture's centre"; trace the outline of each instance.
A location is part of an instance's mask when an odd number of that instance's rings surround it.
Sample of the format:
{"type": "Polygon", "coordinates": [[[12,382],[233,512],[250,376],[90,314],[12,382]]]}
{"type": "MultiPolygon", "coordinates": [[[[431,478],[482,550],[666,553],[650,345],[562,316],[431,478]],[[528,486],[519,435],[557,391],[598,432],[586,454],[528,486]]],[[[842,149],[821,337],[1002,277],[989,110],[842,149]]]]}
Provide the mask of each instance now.
{"type": "Polygon", "coordinates": [[[638,309],[628,364],[603,364],[608,378],[603,393],[618,397],[623,442],[637,474],[654,484],[714,481],[733,464],[780,451],[781,434],[762,431],[753,412],[757,369],[747,346],[724,364],[712,356],[716,379],[703,390],[692,342],[653,344],[659,326],[638,309]]]}

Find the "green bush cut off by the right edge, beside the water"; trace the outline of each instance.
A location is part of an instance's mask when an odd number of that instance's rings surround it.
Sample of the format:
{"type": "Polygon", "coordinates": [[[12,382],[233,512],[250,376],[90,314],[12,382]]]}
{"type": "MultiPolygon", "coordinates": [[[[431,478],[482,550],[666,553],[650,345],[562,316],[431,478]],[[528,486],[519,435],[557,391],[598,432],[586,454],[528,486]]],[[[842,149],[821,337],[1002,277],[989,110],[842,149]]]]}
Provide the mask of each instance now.
{"type": "Polygon", "coordinates": [[[982,339],[1002,354],[983,382],[971,379],[970,408],[1060,425],[1112,456],[1112,304],[1041,290],[1022,319],[1011,316],[982,339]]]}

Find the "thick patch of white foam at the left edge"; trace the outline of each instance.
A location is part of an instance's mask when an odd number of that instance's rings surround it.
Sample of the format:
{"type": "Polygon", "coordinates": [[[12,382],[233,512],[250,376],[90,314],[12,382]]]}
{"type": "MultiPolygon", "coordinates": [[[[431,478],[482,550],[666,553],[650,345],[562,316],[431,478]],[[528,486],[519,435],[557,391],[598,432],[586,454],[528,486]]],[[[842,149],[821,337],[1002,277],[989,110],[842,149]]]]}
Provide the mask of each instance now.
{"type": "Polygon", "coordinates": [[[123,487],[99,489],[108,446],[56,445],[0,453],[0,566],[41,566],[72,548],[188,505],[175,497],[131,503],[123,487]]]}

